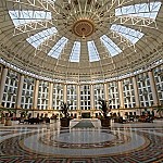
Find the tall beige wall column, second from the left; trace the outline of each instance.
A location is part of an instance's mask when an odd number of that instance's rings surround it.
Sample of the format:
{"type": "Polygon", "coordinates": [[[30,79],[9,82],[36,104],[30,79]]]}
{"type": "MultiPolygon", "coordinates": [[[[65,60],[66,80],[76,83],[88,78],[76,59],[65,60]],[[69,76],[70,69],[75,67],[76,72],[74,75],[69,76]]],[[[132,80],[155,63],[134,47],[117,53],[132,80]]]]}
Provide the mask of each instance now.
{"type": "Polygon", "coordinates": [[[18,88],[17,88],[18,92],[17,92],[16,109],[21,109],[23,83],[24,83],[24,75],[21,74],[21,76],[20,76],[20,83],[18,83],[18,88]]]}

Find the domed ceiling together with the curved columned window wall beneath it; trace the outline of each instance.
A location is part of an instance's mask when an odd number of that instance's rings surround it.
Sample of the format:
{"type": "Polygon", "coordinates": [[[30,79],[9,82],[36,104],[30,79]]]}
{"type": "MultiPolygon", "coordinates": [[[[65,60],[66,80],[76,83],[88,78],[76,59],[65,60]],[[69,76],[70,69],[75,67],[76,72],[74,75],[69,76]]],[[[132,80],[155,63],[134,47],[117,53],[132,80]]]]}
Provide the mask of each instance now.
{"type": "Polygon", "coordinates": [[[161,0],[1,0],[0,106],[74,117],[163,105],[161,0]]]}

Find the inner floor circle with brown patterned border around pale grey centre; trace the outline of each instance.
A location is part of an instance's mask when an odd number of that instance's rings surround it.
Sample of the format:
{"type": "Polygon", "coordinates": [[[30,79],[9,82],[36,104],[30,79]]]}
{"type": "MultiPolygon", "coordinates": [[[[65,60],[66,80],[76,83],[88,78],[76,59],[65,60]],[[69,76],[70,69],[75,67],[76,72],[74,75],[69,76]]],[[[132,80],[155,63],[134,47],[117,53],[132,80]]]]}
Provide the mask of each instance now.
{"type": "Polygon", "coordinates": [[[60,133],[47,133],[40,136],[40,143],[60,147],[60,148],[75,148],[75,149],[92,149],[117,146],[130,140],[130,137],[122,133],[111,130],[97,129],[73,129],[60,133]]]}

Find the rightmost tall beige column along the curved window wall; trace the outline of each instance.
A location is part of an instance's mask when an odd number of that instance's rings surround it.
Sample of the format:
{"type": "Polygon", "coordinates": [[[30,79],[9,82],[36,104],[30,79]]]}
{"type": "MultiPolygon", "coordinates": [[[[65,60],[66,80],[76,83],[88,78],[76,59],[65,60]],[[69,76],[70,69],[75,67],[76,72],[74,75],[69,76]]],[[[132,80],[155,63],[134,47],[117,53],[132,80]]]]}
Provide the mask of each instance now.
{"type": "Polygon", "coordinates": [[[158,98],[158,92],[156,92],[155,82],[154,82],[154,76],[153,76],[152,71],[149,71],[148,75],[149,75],[150,86],[151,86],[151,91],[152,91],[152,97],[153,97],[153,105],[158,105],[159,98],[158,98]]]}

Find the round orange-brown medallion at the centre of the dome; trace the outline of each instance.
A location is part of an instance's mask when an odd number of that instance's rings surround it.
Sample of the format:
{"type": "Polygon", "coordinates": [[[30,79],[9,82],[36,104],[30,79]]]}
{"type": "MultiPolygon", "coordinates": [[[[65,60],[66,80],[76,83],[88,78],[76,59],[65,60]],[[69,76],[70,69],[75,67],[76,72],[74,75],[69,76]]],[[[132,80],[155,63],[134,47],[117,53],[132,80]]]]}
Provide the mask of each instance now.
{"type": "Polygon", "coordinates": [[[95,32],[95,24],[89,20],[78,20],[73,25],[73,33],[82,38],[89,37],[95,32]]]}

